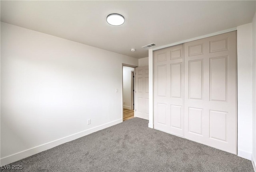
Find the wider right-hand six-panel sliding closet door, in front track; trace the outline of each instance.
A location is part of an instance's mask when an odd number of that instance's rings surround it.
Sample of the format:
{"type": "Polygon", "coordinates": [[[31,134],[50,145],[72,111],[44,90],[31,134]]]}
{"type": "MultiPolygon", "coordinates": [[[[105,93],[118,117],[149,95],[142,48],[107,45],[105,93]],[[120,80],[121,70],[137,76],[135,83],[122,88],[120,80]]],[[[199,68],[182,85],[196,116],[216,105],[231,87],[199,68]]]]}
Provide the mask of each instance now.
{"type": "Polygon", "coordinates": [[[236,154],[236,31],[184,44],[184,137],[236,154]]]}

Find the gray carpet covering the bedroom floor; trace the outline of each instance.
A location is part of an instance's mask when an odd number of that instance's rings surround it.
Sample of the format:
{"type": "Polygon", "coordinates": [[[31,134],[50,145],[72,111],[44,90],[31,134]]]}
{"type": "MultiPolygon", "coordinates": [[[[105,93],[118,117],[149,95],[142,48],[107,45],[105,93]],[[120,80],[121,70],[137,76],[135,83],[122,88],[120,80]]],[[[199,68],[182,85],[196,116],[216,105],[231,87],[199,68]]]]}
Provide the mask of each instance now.
{"type": "MultiPolygon", "coordinates": [[[[252,162],[133,118],[10,165],[18,172],[253,172],[252,162]]],[[[9,172],[15,170],[1,170],[9,172]]]]}

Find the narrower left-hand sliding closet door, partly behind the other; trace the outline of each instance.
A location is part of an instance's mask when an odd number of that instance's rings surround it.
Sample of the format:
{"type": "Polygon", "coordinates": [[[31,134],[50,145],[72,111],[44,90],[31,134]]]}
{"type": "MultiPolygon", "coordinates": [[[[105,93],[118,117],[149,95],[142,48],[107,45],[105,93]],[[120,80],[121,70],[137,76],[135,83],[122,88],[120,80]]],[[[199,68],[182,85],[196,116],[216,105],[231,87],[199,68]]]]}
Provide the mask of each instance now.
{"type": "Polygon", "coordinates": [[[183,137],[183,44],[154,51],[154,128],[183,137]]]}

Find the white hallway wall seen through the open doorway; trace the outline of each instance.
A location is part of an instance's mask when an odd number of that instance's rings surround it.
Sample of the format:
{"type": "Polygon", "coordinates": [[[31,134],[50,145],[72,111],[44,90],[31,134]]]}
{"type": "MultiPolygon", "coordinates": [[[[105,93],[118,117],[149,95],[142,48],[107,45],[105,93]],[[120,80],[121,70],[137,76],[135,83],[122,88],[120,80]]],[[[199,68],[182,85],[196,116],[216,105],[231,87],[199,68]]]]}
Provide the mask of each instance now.
{"type": "Polygon", "coordinates": [[[131,86],[132,86],[132,77],[131,71],[134,71],[134,68],[123,66],[123,102],[125,109],[131,109],[131,101],[132,101],[132,94],[131,94],[131,86]]]}

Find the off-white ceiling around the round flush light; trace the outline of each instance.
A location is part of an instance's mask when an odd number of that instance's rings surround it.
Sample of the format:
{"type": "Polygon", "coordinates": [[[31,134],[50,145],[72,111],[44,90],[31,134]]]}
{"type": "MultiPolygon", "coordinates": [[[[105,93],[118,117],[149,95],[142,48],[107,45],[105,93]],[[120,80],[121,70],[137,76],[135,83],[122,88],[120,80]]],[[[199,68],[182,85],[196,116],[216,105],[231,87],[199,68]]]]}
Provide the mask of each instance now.
{"type": "Polygon", "coordinates": [[[3,1],[1,22],[135,58],[162,46],[252,22],[255,1],[3,1]],[[106,22],[111,13],[125,23],[106,22]],[[136,51],[132,52],[131,48],[136,51]]]}

